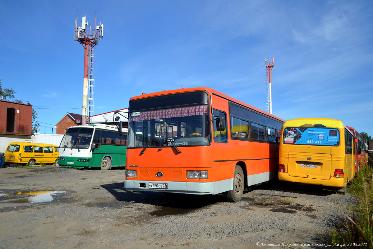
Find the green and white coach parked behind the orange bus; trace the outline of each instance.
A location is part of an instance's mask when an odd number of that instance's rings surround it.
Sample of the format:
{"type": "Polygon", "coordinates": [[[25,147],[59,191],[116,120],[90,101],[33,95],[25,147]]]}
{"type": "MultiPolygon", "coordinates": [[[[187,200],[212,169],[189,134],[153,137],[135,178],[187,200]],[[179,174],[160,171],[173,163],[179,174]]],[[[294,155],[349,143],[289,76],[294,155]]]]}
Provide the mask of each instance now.
{"type": "Polygon", "coordinates": [[[60,144],[58,164],[70,168],[124,167],[127,131],[119,134],[115,126],[105,124],[70,127],[60,144]]]}

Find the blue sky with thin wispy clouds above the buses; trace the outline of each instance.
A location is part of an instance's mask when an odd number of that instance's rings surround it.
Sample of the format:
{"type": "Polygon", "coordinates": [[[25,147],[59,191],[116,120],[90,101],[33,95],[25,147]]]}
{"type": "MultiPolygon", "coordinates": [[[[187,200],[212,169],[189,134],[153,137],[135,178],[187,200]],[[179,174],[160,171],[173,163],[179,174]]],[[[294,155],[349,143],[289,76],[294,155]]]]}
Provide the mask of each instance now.
{"type": "Polygon", "coordinates": [[[274,55],[274,115],[340,119],[373,136],[373,1],[0,0],[0,79],[34,106],[41,133],[81,114],[76,16],[104,24],[94,115],[183,82],[265,110],[274,55]]]}

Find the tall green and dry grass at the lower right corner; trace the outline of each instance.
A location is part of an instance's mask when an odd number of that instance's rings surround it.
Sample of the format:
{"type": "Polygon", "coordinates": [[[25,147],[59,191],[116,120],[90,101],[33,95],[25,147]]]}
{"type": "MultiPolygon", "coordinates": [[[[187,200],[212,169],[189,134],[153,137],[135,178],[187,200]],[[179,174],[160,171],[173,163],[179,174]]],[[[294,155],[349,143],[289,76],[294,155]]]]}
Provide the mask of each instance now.
{"type": "Polygon", "coordinates": [[[362,165],[347,190],[357,199],[350,214],[339,218],[332,232],[332,243],[342,248],[373,248],[373,169],[362,165]]]}

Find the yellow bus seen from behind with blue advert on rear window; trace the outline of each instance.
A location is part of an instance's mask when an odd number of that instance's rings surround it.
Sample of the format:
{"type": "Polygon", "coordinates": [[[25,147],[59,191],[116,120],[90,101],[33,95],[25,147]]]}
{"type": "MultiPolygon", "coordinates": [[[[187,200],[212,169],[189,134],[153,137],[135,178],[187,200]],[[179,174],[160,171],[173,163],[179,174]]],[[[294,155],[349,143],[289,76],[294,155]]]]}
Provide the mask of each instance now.
{"type": "Polygon", "coordinates": [[[279,180],[346,193],[355,173],[354,135],[342,121],[290,119],[282,125],[279,180]]]}

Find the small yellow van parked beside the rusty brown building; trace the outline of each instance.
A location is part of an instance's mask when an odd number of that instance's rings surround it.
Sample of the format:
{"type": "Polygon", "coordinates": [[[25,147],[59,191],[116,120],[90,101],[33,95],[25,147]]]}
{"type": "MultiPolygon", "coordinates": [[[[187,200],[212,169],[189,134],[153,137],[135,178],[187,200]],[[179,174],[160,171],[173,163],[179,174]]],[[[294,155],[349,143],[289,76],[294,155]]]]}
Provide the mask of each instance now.
{"type": "Polygon", "coordinates": [[[10,143],[5,152],[5,164],[58,164],[59,148],[45,143],[10,143]]]}

